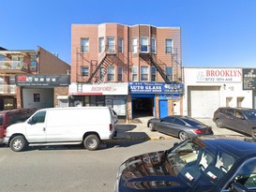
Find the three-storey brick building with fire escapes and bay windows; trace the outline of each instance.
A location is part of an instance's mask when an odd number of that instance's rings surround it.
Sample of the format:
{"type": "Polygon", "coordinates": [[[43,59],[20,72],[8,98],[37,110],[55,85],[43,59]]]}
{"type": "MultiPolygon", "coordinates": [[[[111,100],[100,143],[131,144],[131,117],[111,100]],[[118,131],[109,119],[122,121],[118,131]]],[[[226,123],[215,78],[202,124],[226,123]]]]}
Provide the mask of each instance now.
{"type": "Polygon", "coordinates": [[[179,27],[72,24],[71,105],[111,106],[119,116],[182,112],[179,27]]]}

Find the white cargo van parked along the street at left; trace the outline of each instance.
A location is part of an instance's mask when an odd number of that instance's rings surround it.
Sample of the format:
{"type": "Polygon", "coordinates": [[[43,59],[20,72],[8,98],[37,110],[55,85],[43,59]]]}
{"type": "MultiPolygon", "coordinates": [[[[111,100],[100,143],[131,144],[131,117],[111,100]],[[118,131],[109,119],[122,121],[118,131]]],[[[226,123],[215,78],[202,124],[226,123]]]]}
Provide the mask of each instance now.
{"type": "Polygon", "coordinates": [[[49,108],[36,111],[24,123],[8,126],[4,142],[15,152],[26,146],[80,144],[96,150],[100,140],[115,134],[109,107],[49,108]]]}

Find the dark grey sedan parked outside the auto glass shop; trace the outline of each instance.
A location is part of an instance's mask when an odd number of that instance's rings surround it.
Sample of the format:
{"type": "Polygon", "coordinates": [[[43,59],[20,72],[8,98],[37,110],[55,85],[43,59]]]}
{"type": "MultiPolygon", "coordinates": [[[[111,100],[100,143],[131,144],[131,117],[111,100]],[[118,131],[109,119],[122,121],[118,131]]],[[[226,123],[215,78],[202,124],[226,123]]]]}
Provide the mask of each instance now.
{"type": "Polygon", "coordinates": [[[188,116],[171,115],[162,119],[153,118],[148,120],[147,127],[151,131],[159,131],[180,140],[188,138],[213,135],[212,127],[206,126],[202,122],[188,116]]]}

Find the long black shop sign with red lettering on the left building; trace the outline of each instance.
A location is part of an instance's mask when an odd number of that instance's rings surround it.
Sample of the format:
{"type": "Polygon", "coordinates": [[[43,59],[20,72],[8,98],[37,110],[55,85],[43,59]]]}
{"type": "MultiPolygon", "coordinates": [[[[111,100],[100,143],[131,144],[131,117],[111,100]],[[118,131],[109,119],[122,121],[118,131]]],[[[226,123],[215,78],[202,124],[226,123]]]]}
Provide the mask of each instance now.
{"type": "Polygon", "coordinates": [[[54,87],[68,86],[69,75],[16,75],[16,84],[19,86],[54,87]]]}

